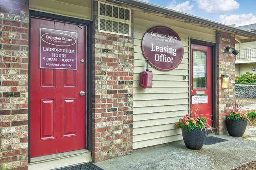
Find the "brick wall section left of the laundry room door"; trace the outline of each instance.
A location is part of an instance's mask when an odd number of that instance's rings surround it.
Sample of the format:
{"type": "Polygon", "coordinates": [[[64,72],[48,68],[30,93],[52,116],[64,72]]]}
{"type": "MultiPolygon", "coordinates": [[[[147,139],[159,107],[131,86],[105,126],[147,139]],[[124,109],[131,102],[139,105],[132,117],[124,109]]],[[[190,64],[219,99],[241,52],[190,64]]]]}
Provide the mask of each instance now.
{"type": "Polygon", "coordinates": [[[0,1],[0,169],[28,164],[28,0],[0,1]]]}

